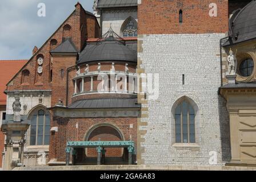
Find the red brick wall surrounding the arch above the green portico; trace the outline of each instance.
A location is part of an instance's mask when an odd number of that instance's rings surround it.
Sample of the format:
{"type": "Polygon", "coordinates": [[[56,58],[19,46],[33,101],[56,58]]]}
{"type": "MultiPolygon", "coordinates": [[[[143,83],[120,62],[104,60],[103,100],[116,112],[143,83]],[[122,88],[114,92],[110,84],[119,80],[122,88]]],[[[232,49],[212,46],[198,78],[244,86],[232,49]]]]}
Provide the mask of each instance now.
{"type": "MultiPolygon", "coordinates": [[[[117,126],[125,140],[131,139],[137,146],[137,118],[60,118],[54,117],[51,121],[51,127],[57,126],[58,132],[51,134],[50,139],[50,159],[58,159],[58,161],[65,161],[65,147],[67,141],[83,141],[91,127],[100,124],[108,123],[117,126]],[[76,129],[78,123],[79,129],[76,129]],[[130,129],[130,124],[133,124],[133,129],[130,129]]],[[[106,130],[103,130],[106,133],[106,130]]],[[[113,133],[101,135],[102,139],[113,140],[113,133]]],[[[97,138],[97,137],[96,137],[97,138]]],[[[113,150],[111,150],[113,151],[113,150]]],[[[109,156],[120,155],[120,150],[108,152],[109,156]]]]}

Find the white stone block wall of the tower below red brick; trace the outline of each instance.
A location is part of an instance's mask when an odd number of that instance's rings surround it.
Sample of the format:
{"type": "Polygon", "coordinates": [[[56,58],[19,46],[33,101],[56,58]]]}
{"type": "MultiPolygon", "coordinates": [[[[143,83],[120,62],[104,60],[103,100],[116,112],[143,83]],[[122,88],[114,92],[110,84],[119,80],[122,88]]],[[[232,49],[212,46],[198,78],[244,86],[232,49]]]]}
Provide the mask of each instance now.
{"type": "MultiPolygon", "coordinates": [[[[148,118],[142,160],[145,164],[209,165],[209,152],[217,152],[217,165],[230,159],[229,118],[225,100],[218,95],[221,85],[219,39],[225,34],[141,35],[141,68],[159,73],[159,97],[148,101],[148,118]],[[182,75],[185,85],[182,85],[182,75]],[[171,138],[171,107],[178,98],[190,97],[199,107],[199,146],[175,146],[171,138]]],[[[154,79],[153,79],[154,80],[154,79]]],[[[147,95],[148,97],[148,95],[147,95]]],[[[197,133],[197,131],[196,131],[197,133]]]]}

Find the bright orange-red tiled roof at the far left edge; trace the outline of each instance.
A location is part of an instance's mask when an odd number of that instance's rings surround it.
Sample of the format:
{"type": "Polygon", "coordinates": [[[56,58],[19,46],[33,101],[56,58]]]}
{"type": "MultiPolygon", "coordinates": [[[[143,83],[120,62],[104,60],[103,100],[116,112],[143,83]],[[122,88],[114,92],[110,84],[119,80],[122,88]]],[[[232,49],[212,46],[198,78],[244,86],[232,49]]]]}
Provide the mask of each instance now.
{"type": "Polygon", "coordinates": [[[6,105],[6,84],[26,63],[27,60],[0,60],[0,105],[6,105]]]}

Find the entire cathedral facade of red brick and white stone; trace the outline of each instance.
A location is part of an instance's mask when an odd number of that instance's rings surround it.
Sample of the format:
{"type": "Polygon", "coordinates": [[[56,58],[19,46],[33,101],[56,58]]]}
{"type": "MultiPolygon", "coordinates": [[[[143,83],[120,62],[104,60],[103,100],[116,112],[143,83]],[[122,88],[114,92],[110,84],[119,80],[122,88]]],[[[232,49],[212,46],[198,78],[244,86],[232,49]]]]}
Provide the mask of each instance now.
{"type": "Polygon", "coordinates": [[[7,83],[3,168],[255,166],[255,8],[77,3],[7,83]]]}

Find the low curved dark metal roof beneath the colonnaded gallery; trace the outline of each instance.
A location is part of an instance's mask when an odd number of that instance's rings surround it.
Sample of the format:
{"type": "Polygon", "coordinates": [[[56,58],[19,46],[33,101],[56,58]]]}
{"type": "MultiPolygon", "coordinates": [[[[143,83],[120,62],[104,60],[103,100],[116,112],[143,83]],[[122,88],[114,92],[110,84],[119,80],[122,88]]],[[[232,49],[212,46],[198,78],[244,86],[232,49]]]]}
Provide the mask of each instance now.
{"type": "Polygon", "coordinates": [[[107,98],[74,102],[69,109],[140,108],[137,98],[107,98]]]}

